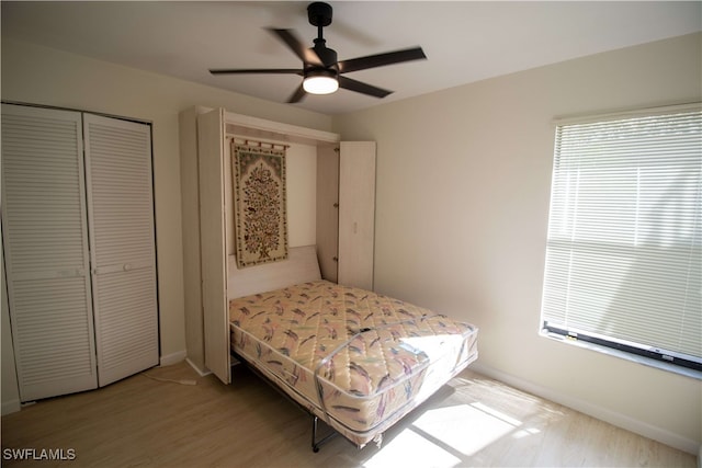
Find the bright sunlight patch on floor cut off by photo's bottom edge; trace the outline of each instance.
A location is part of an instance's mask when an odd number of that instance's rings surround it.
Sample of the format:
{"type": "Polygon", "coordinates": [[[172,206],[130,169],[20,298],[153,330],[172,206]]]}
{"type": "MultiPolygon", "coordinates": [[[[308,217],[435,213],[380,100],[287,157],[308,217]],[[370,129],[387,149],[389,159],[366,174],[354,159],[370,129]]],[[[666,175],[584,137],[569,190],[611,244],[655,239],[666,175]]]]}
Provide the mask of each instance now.
{"type": "Polygon", "coordinates": [[[455,467],[461,459],[422,437],[411,429],[406,429],[369,459],[365,468],[386,467],[455,467]]]}

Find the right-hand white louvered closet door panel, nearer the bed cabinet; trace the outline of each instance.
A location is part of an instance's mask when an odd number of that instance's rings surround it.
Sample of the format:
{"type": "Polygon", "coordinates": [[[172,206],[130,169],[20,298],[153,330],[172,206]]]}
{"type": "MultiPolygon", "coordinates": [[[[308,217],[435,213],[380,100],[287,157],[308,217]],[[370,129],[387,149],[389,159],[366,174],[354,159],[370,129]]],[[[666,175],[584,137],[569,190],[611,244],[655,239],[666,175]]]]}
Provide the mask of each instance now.
{"type": "Polygon", "coordinates": [[[158,365],[150,128],[84,116],[100,386],[158,365]]]}

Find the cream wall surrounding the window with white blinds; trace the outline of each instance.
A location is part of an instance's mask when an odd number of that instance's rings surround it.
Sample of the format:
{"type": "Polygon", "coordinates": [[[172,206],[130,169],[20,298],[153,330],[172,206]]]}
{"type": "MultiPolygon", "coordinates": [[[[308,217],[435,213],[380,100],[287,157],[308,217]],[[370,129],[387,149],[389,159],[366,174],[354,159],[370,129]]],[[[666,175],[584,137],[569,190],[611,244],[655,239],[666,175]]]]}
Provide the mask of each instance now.
{"type": "Polygon", "coordinates": [[[344,139],[377,141],[378,292],[477,324],[477,368],[694,454],[702,383],[537,330],[553,118],[700,101],[701,43],[663,41],[333,121],[344,139]]]}

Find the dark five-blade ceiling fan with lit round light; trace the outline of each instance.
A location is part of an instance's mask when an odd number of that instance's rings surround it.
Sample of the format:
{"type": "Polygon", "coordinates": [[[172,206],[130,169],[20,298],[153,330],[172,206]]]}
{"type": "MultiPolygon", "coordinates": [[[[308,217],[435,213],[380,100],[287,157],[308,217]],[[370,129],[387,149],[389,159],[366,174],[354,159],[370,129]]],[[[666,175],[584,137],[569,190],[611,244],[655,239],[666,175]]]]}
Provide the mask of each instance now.
{"type": "Polygon", "coordinates": [[[367,94],[375,98],[385,98],[393,91],[384,90],[361,81],[343,76],[351,71],[366,70],[369,68],[383,67],[385,65],[400,64],[404,61],[424,59],[427,56],[421,47],[414,47],[404,50],[389,52],[385,54],[370,55],[366,57],[352,58],[350,60],[337,59],[337,52],[327,47],[322,35],[325,26],[331,24],[331,5],[324,2],[314,2],[307,7],[307,18],[309,24],[317,26],[317,38],[314,39],[314,47],[307,48],[297,38],[292,30],[269,28],[280,41],[285,43],[295,55],[303,60],[303,68],[258,68],[258,69],[211,69],[212,75],[244,75],[244,73],[267,73],[267,75],[298,75],[303,77],[303,82],[287,100],[288,103],[299,102],[306,93],[330,94],[339,88],[367,94]]]}

